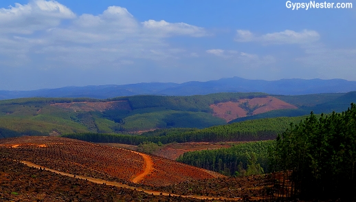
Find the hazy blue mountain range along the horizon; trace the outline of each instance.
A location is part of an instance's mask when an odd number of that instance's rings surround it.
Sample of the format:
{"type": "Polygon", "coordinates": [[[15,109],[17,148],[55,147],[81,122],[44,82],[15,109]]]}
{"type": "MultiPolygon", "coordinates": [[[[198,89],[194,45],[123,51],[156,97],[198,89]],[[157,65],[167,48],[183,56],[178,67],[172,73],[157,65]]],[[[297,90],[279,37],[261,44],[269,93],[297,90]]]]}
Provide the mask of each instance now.
{"type": "Polygon", "coordinates": [[[356,81],[342,79],[282,79],[248,80],[221,78],[207,82],[164,83],[150,82],[131,85],[100,85],[86,87],[62,87],[33,91],[0,91],[0,100],[13,98],[114,98],[134,95],[192,96],[220,92],[263,92],[274,95],[304,95],[312,93],[344,93],[356,91],[356,81]]]}

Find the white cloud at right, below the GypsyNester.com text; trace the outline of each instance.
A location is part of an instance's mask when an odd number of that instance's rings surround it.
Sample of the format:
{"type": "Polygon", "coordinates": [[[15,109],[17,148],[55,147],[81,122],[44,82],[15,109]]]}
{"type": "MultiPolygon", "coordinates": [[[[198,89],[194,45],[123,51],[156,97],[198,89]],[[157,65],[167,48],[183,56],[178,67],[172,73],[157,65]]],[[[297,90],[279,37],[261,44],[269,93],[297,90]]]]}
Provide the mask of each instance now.
{"type": "Polygon", "coordinates": [[[285,30],[283,32],[274,32],[256,36],[248,30],[237,30],[235,41],[251,42],[256,41],[264,44],[304,44],[318,41],[320,35],[313,30],[303,30],[302,32],[295,32],[293,30],[285,30]]]}

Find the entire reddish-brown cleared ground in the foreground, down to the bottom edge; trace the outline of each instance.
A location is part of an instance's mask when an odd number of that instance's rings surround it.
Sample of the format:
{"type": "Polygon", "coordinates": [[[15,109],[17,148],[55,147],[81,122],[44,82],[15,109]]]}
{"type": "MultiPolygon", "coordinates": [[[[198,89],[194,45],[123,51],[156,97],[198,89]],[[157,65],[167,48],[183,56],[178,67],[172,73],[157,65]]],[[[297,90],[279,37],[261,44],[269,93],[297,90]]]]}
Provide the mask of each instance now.
{"type": "Polygon", "coordinates": [[[257,200],[262,199],[263,187],[260,177],[221,177],[162,157],[74,139],[0,139],[0,201],[257,200]],[[105,159],[107,154],[109,158],[105,159]],[[124,161],[130,166],[123,165],[124,161]],[[129,168],[135,164],[137,168],[129,168]],[[123,179],[116,172],[105,172],[107,166],[103,165],[114,165],[120,172],[129,170],[132,176],[123,179]]]}

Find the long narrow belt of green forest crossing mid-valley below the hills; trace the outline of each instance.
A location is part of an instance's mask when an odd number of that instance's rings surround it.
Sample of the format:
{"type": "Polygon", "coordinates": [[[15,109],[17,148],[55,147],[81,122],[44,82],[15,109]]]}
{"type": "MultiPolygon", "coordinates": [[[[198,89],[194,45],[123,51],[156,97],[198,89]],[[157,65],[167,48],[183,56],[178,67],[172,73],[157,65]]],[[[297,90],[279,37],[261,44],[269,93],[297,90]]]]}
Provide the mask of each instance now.
{"type": "Polygon", "coordinates": [[[99,133],[73,133],[63,135],[88,142],[117,142],[138,145],[143,142],[168,144],[171,142],[227,142],[227,141],[259,141],[276,139],[278,133],[288,128],[291,122],[298,123],[305,117],[276,117],[251,120],[212,126],[203,129],[166,129],[157,130],[142,135],[118,135],[99,133]]]}

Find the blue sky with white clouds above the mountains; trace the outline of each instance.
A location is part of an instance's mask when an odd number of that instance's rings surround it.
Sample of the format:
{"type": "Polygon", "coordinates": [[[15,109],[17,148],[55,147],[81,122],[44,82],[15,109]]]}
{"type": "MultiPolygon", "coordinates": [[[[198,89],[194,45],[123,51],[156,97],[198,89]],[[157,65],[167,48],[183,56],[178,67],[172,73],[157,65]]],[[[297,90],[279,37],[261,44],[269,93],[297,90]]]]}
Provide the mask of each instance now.
{"type": "Polygon", "coordinates": [[[348,9],[288,3],[0,1],[0,90],[234,76],[356,80],[356,1],[326,1],[353,3],[348,9]]]}

